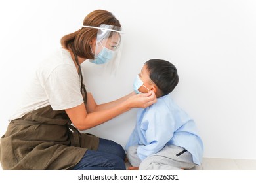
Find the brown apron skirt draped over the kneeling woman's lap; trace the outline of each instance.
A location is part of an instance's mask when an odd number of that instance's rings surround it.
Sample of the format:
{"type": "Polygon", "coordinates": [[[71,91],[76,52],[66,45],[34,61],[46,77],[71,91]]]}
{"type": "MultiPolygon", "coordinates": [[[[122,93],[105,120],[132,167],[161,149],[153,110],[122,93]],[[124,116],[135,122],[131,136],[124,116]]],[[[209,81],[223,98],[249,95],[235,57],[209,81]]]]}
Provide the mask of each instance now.
{"type": "Polygon", "coordinates": [[[98,143],[98,137],[71,125],[64,110],[49,105],[10,122],[1,137],[0,161],[3,169],[72,169],[98,143]]]}

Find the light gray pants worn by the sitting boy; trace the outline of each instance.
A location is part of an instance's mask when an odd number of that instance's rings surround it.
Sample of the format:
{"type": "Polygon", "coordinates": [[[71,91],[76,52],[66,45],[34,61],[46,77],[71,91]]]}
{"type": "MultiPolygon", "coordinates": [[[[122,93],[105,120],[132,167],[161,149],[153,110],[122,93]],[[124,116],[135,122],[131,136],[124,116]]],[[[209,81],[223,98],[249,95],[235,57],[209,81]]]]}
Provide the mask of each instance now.
{"type": "Polygon", "coordinates": [[[138,146],[129,147],[127,158],[133,167],[139,167],[140,170],[192,169],[196,165],[192,161],[192,154],[179,146],[166,145],[160,152],[143,161],[137,156],[137,148],[138,146]]]}

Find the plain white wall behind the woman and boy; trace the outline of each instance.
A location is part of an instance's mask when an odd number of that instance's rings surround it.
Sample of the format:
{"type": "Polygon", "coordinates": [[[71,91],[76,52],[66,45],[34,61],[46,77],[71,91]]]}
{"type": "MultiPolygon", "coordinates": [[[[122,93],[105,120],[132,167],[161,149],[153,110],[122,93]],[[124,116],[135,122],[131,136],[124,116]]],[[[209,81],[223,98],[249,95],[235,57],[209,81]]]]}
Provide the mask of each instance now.
{"type": "MultiPolygon", "coordinates": [[[[196,121],[204,157],[256,159],[253,0],[1,1],[0,134],[30,71],[98,8],[113,12],[125,31],[115,77],[102,77],[95,65],[83,65],[98,103],[131,92],[148,59],[167,59],[180,76],[173,97],[196,121]]],[[[136,109],[130,110],[90,132],[124,146],[135,114],[136,109]]]]}

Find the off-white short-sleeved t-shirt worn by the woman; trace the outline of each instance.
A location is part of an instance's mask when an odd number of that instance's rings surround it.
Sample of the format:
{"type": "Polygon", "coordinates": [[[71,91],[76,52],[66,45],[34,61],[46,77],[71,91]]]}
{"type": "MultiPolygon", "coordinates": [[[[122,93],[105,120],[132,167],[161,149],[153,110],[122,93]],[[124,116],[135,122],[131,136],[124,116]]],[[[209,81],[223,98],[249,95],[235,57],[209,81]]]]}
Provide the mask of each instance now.
{"type": "MultiPolygon", "coordinates": [[[[9,120],[21,118],[24,114],[47,105],[51,105],[53,110],[81,105],[83,97],[80,87],[79,75],[70,53],[60,48],[38,65],[18,110],[9,120]]],[[[85,88],[89,93],[88,87],[85,88]]]]}

